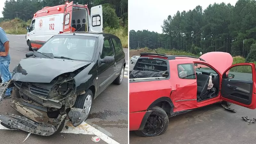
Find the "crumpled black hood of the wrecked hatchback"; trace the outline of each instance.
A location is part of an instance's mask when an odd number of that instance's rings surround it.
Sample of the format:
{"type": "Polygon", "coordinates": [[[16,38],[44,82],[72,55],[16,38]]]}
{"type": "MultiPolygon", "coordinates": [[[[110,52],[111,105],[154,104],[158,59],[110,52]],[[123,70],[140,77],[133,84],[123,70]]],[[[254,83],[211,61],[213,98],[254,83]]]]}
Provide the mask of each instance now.
{"type": "Polygon", "coordinates": [[[27,58],[21,59],[13,69],[12,80],[33,83],[50,83],[55,77],[73,72],[91,62],[66,60],[27,58]]]}

